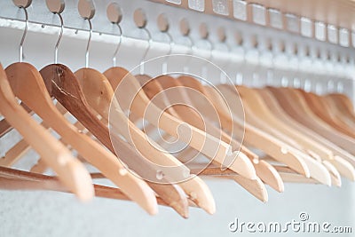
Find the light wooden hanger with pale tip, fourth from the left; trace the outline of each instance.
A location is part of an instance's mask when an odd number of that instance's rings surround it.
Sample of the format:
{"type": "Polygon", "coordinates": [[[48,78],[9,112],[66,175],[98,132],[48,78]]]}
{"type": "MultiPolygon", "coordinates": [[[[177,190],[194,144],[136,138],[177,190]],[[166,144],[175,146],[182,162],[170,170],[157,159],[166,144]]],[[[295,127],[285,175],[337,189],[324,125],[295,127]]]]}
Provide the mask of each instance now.
{"type": "MultiPolygon", "coordinates": [[[[88,48],[87,48],[88,50],[88,48]]],[[[82,68],[78,70],[76,73],[76,78],[79,80],[81,83],[81,86],[83,88],[83,93],[88,100],[88,103],[93,107],[97,113],[99,113],[104,119],[108,120],[108,109],[111,104],[111,99],[114,99],[114,93],[112,91],[111,86],[109,85],[105,75],[100,74],[98,71],[92,69],[92,68],[82,68]],[[105,100],[106,99],[106,100],[105,100]],[[106,101],[104,103],[103,101],[106,101]],[[99,107],[98,103],[102,106],[99,107]]],[[[147,143],[146,137],[144,134],[141,133],[140,130],[135,130],[134,127],[131,126],[131,123],[127,120],[125,115],[122,113],[122,110],[120,110],[120,106],[118,103],[114,101],[114,119],[115,121],[121,120],[120,123],[114,124],[116,126],[116,129],[122,130],[123,129],[123,134],[122,135],[128,135],[127,134],[127,128],[130,126],[130,130],[134,132],[133,133],[133,138],[138,139],[142,141],[143,143],[136,143],[138,145],[139,152],[142,154],[145,154],[146,158],[154,159],[154,163],[159,163],[163,162],[167,165],[168,169],[171,167],[174,168],[175,170],[182,170],[182,176],[175,176],[175,178],[181,178],[185,177],[188,175],[188,169],[184,168],[182,163],[178,162],[174,157],[171,155],[167,154],[162,154],[160,151],[156,150],[153,146],[151,146],[150,143],[147,143]],[[124,123],[122,123],[124,122],[124,123]],[[121,126],[121,128],[119,127],[121,126]],[[138,135],[138,136],[137,136],[138,135]],[[142,136],[143,135],[143,136],[142,136]],[[147,146],[141,146],[142,144],[146,144],[147,146]],[[151,153],[148,153],[151,152],[151,153]],[[153,156],[152,154],[156,154],[157,156],[153,156]],[[156,162],[157,158],[160,158],[159,162],[156,162]],[[169,159],[170,157],[170,159],[169,159]],[[173,159],[172,159],[173,158],[173,159]],[[186,171],[187,172],[186,172],[186,171]]],[[[126,137],[130,141],[130,137],[126,137]]],[[[171,169],[170,169],[171,170],[171,169]]],[[[178,172],[176,172],[178,175],[178,172]]],[[[174,175],[174,174],[164,174],[166,176],[174,175]]],[[[174,177],[173,177],[174,178],[174,177]]],[[[177,180],[177,179],[173,179],[177,180]]],[[[178,179],[181,180],[181,179],[178,179]]],[[[160,181],[160,180],[158,180],[160,181]]],[[[190,196],[190,198],[193,199],[202,209],[205,209],[208,213],[212,214],[215,212],[215,202],[213,200],[212,194],[210,194],[208,186],[200,179],[200,178],[190,178],[185,182],[179,183],[179,186],[183,188],[185,193],[190,196]]]]}

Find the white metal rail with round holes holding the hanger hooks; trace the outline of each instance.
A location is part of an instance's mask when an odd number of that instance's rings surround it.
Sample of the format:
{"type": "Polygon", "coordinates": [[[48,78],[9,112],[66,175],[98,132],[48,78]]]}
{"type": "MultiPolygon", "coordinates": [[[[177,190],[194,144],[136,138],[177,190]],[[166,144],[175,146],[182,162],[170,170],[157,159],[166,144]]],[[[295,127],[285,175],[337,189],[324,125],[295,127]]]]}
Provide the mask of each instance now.
{"type": "MultiPolygon", "coordinates": [[[[315,38],[297,35],[289,28],[265,28],[265,24],[260,24],[261,21],[257,20],[256,16],[256,13],[263,13],[256,10],[251,13],[249,11],[247,18],[251,16],[252,20],[235,21],[219,17],[218,14],[188,11],[154,1],[65,0],[65,10],[61,14],[65,27],[64,37],[87,41],[88,22],[78,12],[78,4],[84,3],[91,4],[95,12],[91,19],[94,32],[92,41],[117,44],[120,31],[115,24],[107,20],[106,14],[107,5],[112,2],[117,3],[122,12],[122,20],[119,23],[122,28],[122,47],[139,53],[146,51],[149,46],[146,59],[167,54],[172,39],[172,53],[187,53],[209,59],[222,67],[235,83],[254,86],[266,83],[281,86],[301,85],[309,91],[319,93],[339,91],[351,97],[353,95],[355,50],[352,47],[343,47],[343,43],[339,42],[342,46],[332,43],[331,40],[319,41],[316,35],[315,38]],[[137,12],[141,13],[140,18],[146,20],[144,28],[138,28],[137,12]],[[169,35],[161,30],[162,14],[169,24],[169,35]],[[145,29],[152,36],[149,45],[145,29]]],[[[223,4],[225,1],[211,1],[206,6],[213,6],[215,2],[223,4]]],[[[233,4],[235,2],[244,1],[233,1],[233,4]]],[[[248,7],[254,9],[259,5],[248,7]]],[[[270,9],[264,10],[270,13],[270,9]]],[[[267,16],[270,18],[269,13],[267,16]]],[[[49,12],[45,1],[32,1],[28,7],[28,19],[30,32],[51,35],[59,32],[59,18],[49,12]]],[[[23,12],[12,1],[0,1],[1,28],[23,29],[23,20],[23,12]]],[[[302,31],[302,28],[300,30],[302,31]]],[[[340,38],[340,35],[337,38],[340,38]]]]}

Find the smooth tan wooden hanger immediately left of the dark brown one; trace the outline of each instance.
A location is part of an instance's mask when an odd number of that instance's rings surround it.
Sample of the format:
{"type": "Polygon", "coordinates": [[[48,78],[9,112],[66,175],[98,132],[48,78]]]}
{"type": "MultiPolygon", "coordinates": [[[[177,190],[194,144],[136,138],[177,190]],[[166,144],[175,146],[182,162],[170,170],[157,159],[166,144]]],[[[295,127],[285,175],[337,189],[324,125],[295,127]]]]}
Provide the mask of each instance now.
{"type": "MultiPolygon", "coordinates": [[[[138,205],[152,215],[157,213],[155,195],[146,186],[146,183],[126,170],[113,154],[108,153],[97,142],[80,133],[73,124],[67,122],[59,113],[52,104],[42,76],[35,67],[27,63],[14,63],[7,67],[5,71],[9,76],[12,91],[22,102],[56,130],[88,162],[101,170],[115,185],[120,186],[125,194],[130,196],[132,200],[137,201],[138,205]],[[24,75],[26,75],[26,80],[23,80],[24,75]],[[101,160],[98,157],[101,157],[101,160]]],[[[52,71],[52,73],[58,72],[52,71]]],[[[51,76],[53,77],[53,75],[51,76]]]]}

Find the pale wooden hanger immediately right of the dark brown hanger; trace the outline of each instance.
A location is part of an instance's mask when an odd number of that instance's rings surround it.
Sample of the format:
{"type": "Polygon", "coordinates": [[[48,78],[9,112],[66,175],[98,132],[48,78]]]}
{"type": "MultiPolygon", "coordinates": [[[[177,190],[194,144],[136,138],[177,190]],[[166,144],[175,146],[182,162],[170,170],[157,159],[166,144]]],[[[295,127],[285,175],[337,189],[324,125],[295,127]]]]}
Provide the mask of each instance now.
{"type": "MultiPolygon", "coordinates": [[[[87,47],[87,50],[88,49],[89,47],[87,47]]],[[[88,55],[88,53],[86,55],[88,55]]],[[[183,180],[182,178],[188,178],[188,180],[178,185],[181,186],[185,193],[202,209],[205,209],[210,214],[215,212],[215,202],[208,186],[198,177],[189,178],[189,170],[181,162],[178,162],[172,155],[164,154],[159,149],[156,149],[158,146],[152,146],[152,141],[148,141],[144,133],[135,128],[134,124],[127,119],[120,105],[115,100],[114,91],[105,75],[102,75],[99,71],[92,68],[84,67],[76,71],[75,76],[81,83],[83,94],[90,106],[93,107],[104,120],[108,121],[109,118],[113,119],[113,121],[110,121],[109,126],[119,131],[131,144],[133,140],[132,145],[136,146],[139,153],[143,154],[147,159],[150,159],[151,162],[154,162],[154,165],[160,164],[159,167],[163,175],[170,176],[173,182],[183,180]],[[108,114],[110,106],[113,106],[111,108],[113,112],[111,115],[108,114]],[[169,170],[169,172],[167,173],[164,169],[169,170]]],[[[111,132],[111,135],[112,133],[114,132],[111,132]]],[[[160,180],[158,180],[158,182],[159,181],[160,180]]]]}

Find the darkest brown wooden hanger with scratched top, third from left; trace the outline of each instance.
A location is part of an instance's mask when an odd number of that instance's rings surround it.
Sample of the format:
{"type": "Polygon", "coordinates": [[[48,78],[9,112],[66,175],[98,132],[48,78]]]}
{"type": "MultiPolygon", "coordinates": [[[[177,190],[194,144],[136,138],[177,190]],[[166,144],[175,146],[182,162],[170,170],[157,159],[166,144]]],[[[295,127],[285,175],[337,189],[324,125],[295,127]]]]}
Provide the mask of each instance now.
{"type": "MultiPolygon", "coordinates": [[[[123,142],[121,138],[112,136],[114,146],[112,145],[109,130],[104,123],[99,121],[96,112],[92,110],[86,102],[80,84],[75,78],[75,75],[67,67],[63,65],[51,65],[44,67],[41,73],[46,81],[48,90],[51,91],[52,95],[54,95],[72,115],[75,115],[76,119],[83,123],[85,128],[90,130],[95,137],[99,138],[99,141],[111,152],[115,152],[115,147],[119,157],[123,162],[129,165],[131,170],[134,170],[141,177],[147,178],[146,182],[148,185],[151,186],[166,203],[176,209],[181,216],[188,216],[187,200],[179,186],[161,186],[154,183],[155,181],[159,181],[170,184],[169,175],[158,180],[156,177],[159,170],[155,170],[150,163],[146,162],[135,149],[123,142]]],[[[63,113],[65,113],[65,111],[63,111],[63,113]]]]}

